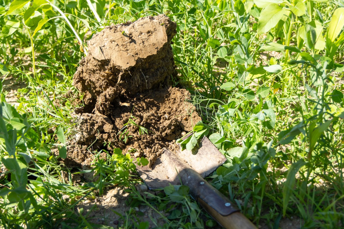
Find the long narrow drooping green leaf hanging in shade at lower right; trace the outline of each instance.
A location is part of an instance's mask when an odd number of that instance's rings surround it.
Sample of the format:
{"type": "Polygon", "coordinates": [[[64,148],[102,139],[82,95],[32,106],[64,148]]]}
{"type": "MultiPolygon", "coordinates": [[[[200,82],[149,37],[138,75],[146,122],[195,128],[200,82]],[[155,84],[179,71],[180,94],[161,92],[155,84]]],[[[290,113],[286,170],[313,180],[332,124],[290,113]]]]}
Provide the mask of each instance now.
{"type": "Polygon", "coordinates": [[[300,168],[305,165],[303,159],[293,163],[288,170],[287,179],[283,184],[283,215],[286,215],[289,199],[294,191],[295,176],[299,172],[300,168]]]}

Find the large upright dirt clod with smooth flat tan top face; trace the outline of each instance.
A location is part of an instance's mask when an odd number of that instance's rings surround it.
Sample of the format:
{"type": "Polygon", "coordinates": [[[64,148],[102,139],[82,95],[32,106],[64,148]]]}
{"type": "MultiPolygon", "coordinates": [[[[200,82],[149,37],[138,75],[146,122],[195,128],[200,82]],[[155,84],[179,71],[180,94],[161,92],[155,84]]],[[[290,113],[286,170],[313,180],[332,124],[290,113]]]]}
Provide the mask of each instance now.
{"type": "Polygon", "coordinates": [[[94,35],[74,75],[75,87],[84,93],[84,112],[107,115],[119,96],[123,100],[166,85],[174,70],[170,43],[175,34],[176,23],[162,14],[107,26],[94,35]]]}

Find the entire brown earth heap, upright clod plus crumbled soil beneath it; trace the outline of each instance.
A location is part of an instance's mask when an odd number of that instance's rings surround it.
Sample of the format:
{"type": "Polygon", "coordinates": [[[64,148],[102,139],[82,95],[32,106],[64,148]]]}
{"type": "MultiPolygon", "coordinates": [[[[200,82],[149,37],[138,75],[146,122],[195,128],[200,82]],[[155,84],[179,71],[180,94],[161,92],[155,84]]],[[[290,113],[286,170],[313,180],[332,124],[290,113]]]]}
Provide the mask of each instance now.
{"type": "Polygon", "coordinates": [[[175,34],[176,23],[158,15],[107,26],[90,39],[74,75],[85,106],[76,111],[67,166],[89,164],[92,150],[120,148],[152,164],[163,148],[179,149],[175,140],[201,118],[189,92],[168,84],[175,34]]]}

